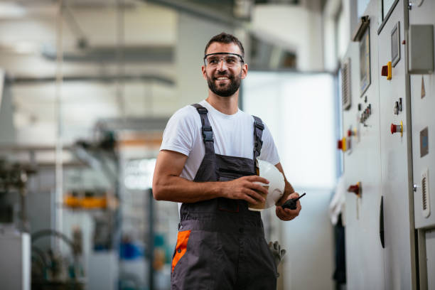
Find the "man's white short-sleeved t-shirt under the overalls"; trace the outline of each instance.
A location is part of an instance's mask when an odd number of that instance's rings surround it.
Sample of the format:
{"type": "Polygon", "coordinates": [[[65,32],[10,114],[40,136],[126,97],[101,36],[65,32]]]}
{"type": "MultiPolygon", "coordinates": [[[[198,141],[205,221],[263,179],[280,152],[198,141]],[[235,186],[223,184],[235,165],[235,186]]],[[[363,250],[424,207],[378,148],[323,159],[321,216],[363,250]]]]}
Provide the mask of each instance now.
{"type": "MultiPolygon", "coordinates": [[[[223,114],[205,100],[199,104],[208,109],[215,154],[253,159],[254,117],[240,109],[232,115],[223,114]]],[[[163,132],[160,150],[177,151],[188,156],[180,176],[189,181],[195,178],[205,155],[201,127],[200,114],[195,107],[188,105],[173,114],[163,132]]],[[[274,165],[279,163],[278,152],[266,124],[264,124],[262,141],[259,159],[274,165]]]]}

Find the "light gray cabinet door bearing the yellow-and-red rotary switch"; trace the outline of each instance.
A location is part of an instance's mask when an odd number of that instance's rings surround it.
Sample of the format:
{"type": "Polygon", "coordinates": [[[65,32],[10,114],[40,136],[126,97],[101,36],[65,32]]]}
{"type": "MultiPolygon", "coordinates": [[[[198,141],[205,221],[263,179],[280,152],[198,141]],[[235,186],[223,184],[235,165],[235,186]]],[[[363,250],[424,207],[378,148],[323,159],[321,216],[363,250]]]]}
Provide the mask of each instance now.
{"type": "MultiPolygon", "coordinates": [[[[399,1],[380,31],[379,67],[392,62],[392,31],[399,26],[399,43],[407,30],[408,1],[399,1]]],[[[405,50],[392,67],[391,80],[380,76],[380,139],[382,195],[384,196],[385,289],[413,289],[415,281],[414,218],[412,216],[412,159],[409,75],[405,50]],[[401,105],[400,105],[401,103],[401,105]],[[396,109],[396,104],[398,108],[396,109]],[[400,108],[401,107],[401,108],[400,108]],[[392,126],[402,132],[392,133],[392,126]]]]}

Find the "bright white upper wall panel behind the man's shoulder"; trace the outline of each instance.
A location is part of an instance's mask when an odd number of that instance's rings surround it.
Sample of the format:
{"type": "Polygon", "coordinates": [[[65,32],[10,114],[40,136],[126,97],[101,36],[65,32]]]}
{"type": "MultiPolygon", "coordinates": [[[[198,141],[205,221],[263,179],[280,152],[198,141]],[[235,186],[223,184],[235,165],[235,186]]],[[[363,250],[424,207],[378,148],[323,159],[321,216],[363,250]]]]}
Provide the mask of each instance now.
{"type": "Polygon", "coordinates": [[[294,186],[335,186],[333,92],[326,73],[250,72],[243,81],[243,109],[269,127],[294,186]]]}

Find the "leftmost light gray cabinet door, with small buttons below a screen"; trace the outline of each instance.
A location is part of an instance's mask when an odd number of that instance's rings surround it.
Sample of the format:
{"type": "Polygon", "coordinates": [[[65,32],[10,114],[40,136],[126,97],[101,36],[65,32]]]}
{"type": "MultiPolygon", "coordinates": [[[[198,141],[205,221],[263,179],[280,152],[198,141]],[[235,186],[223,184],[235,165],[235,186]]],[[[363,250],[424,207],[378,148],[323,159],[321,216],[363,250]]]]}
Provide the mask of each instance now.
{"type": "Polygon", "coordinates": [[[364,36],[359,42],[350,43],[345,59],[350,59],[353,100],[350,109],[343,111],[343,136],[350,146],[343,152],[345,184],[349,187],[360,182],[361,188],[360,196],[346,193],[346,286],[348,289],[361,290],[385,289],[385,261],[380,240],[382,191],[375,1],[369,4],[365,12],[365,15],[370,16],[370,26],[367,28],[370,51],[367,50],[367,55],[361,50],[361,46],[367,44],[364,36]],[[370,56],[368,61],[365,60],[366,69],[367,65],[371,67],[370,75],[363,77],[370,79],[368,86],[367,82],[361,85],[360,55],[370,56]],[[362,123],[361,117],[369,107],[370,116],[362,123]]]}

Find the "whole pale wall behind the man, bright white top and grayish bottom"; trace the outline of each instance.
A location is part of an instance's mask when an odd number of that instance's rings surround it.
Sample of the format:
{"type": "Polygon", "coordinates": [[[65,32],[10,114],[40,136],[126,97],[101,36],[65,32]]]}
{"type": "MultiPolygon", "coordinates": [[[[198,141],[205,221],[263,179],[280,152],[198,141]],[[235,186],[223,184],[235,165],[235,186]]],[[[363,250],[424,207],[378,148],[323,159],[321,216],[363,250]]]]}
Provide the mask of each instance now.
{"type": "MultiPolygon", "coordinates": [[[[287,249],[283,289],[333,289],[333,226],[328,204],[335,185],[333,77],[250,72],[243,82],[244,111],[261,117],[274,137],[302,210],[290,222],[271,218],[287,249]]],[[[272,213],[274,216],[274,213],[272,213]]]]}

